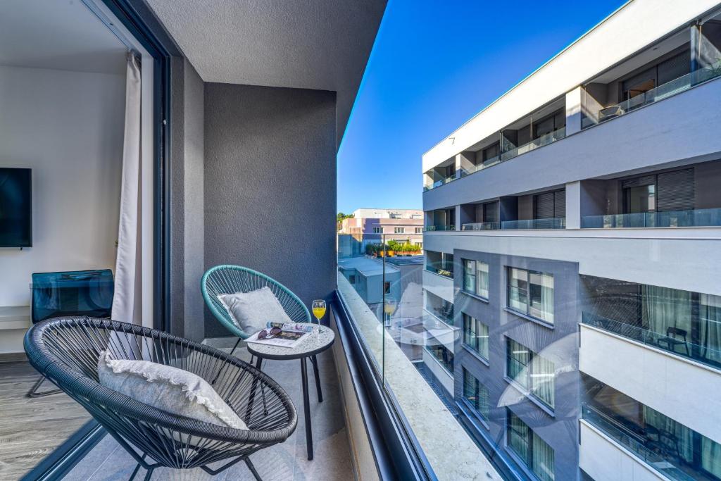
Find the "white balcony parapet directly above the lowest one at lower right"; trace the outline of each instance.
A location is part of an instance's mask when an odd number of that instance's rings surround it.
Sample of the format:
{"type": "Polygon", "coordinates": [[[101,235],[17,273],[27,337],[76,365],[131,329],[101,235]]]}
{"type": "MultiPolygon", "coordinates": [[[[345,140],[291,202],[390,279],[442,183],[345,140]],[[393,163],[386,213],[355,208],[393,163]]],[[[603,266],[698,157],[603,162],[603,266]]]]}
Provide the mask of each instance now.
{"type": "Polygon", "coordinates": [[[721,443],[721,371],[583,324],[579,368],[721,443]]]}

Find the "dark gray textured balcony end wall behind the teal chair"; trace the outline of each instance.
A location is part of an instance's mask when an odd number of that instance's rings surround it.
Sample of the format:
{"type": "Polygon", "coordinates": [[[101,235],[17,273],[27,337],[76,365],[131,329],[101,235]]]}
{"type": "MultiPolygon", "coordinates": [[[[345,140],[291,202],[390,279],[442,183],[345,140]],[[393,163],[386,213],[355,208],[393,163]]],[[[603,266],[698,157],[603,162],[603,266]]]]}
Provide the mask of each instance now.
{"type": "MultiPolygon", "coordinates": [[[[205,268],[335,290],[335,92],[205,84],[205,268]]],[[[228,335],[207,311],[205,337],[228,335]]]]}

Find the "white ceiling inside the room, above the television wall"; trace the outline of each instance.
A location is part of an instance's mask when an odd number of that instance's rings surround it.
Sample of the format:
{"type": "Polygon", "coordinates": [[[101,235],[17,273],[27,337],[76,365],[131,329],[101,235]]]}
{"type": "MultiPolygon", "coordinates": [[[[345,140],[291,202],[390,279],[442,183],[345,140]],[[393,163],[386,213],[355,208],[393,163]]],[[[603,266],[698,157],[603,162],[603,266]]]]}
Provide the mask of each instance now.
{"type": "Polygon", "coordinates": [[[80,0],[0,0],[0,65],[124,74],[126,50],[80,0]]]}

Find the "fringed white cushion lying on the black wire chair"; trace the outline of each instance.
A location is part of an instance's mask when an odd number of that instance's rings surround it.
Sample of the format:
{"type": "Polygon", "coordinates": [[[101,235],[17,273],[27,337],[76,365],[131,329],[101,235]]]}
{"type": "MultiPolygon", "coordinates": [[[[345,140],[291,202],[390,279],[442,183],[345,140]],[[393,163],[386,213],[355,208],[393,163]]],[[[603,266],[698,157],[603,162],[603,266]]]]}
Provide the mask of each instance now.
{"type": "Polygon", "coordinates": [[[151,361],[112,359],[103,351],[97,361],[100,384],[143,404],[174,415],[229,428],[247,425],[205,379],[151,361]]]}

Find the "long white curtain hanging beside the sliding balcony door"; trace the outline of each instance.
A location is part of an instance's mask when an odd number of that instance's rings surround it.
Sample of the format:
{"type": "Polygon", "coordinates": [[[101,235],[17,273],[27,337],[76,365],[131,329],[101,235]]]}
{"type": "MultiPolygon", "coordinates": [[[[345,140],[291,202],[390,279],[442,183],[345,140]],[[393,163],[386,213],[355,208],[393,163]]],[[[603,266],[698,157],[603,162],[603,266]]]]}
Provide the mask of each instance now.
{"type": "Polygon", "coordinates": [[[112,319],[142,325],[141,319],[141,72],[140,61],[128,53],[125,79],[123,180],[120,187],[118,257],[112,319]]]}

